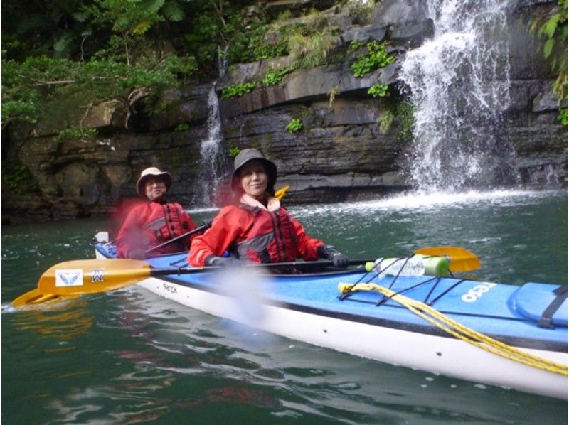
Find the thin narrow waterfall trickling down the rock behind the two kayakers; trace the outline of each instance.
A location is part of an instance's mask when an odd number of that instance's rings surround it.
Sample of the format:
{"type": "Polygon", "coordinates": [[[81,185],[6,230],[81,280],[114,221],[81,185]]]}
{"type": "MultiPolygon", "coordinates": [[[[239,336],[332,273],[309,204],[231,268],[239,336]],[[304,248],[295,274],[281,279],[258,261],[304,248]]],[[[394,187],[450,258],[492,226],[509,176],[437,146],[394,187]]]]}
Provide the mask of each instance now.
{"type": "MultiPolygon", "coordinates": [[[[227,48],[218,50],[219,77],[227,70],[227,48]]],[[[221,146],[221,120],[219,116],[219,100],[216,93],[216,83],[213,82],[208,94],[208,136],[201,142],[201,173],[200,188],[195,200],[197,204],[212,206],[217,201],[217,188],[225,176],[224,151],[221,146]]]]}

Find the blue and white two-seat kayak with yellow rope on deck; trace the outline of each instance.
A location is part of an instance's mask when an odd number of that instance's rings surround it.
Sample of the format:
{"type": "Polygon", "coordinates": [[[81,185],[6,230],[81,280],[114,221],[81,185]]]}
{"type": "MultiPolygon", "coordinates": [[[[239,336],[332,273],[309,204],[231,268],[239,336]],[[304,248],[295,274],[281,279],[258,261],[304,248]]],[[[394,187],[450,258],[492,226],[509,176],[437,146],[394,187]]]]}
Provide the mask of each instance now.
{"type": "MultiPolygon", "coordinates": [[[[113,259],[116,249],[100,241],[95,254],[113,259]]],[[[186,257],[179,253],[144,261],[151,269],[187,268],[186,257]]],[[[149,276],[137,284],[184,306],[294,340],[567,398],[566,286],[433,276],[380,279],[362,267],[265,274],[254,287],[245,279],[203,271],[149,276]]]]}

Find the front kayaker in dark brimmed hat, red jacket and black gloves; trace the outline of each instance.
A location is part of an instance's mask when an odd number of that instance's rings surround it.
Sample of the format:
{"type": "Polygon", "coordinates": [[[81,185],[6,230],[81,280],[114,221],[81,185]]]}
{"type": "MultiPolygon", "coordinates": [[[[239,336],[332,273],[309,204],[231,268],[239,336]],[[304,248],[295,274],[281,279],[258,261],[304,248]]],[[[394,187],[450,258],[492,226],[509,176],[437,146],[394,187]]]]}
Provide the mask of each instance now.
{"type": "Polygon", "coordinates": [[[348,267],[349,259],[334,247],[309,237],[304,227],[275,198],[277,166],[257,149],[235,156],[231,189],[233,205],[225,206],[210,229],[196,237],[188,253],[193,267],[331,259],[348,267]],[[229,257],[222,257],[224,252],[229,257]]]}

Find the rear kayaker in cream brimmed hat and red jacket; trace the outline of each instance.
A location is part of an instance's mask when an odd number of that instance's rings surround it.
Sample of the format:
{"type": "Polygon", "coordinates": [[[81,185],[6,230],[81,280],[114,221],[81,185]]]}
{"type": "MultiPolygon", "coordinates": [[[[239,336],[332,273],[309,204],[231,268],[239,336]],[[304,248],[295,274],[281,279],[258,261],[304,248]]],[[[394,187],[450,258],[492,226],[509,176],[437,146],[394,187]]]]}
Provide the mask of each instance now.
{"type": "MultiPolygon", "coordinates": [[[[191,240],[196,235],[174,240],[176,237],[196,229],[190,215],[179,203],[166,200],[166,193],[172,186],[170,173],[156,167],[146,168],[137,181],[137,193],[148,202],[132,208],[124,220],[117,236],[117,254],[119,258],[143,259],[149,255],[183,252],[190,248],[191,240]],[[151,248],[164,244],[163,247],[151,248]]],[[[205,220],[204,225],[211,224],[205,220]]]]}

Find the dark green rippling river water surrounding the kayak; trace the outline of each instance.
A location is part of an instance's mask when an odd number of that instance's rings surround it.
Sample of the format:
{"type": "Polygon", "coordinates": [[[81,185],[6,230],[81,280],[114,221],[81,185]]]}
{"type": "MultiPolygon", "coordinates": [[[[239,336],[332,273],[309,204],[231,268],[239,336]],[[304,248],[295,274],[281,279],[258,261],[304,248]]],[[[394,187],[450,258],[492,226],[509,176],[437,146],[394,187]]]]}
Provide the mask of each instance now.
{"type": "MultiPolygon", "coordinates": [[[[430,245],[476,253],[474,276],[567,283],[567,193],[410,195],[290,208],[351,258],[430,245]]],[[[196,222],[211,217],[196,211],[196,222]]],[[[395,367],[240,328],[132,286],[14,311],[53,264],[93,257],[107,220],[2,228],[6,424],[565,424],[567,402],[395,367]]],[[[378,342],[381,343],[381,342],[378,342]]],[[[471,365],[476,367],[477,365],[471,365]]]]}

